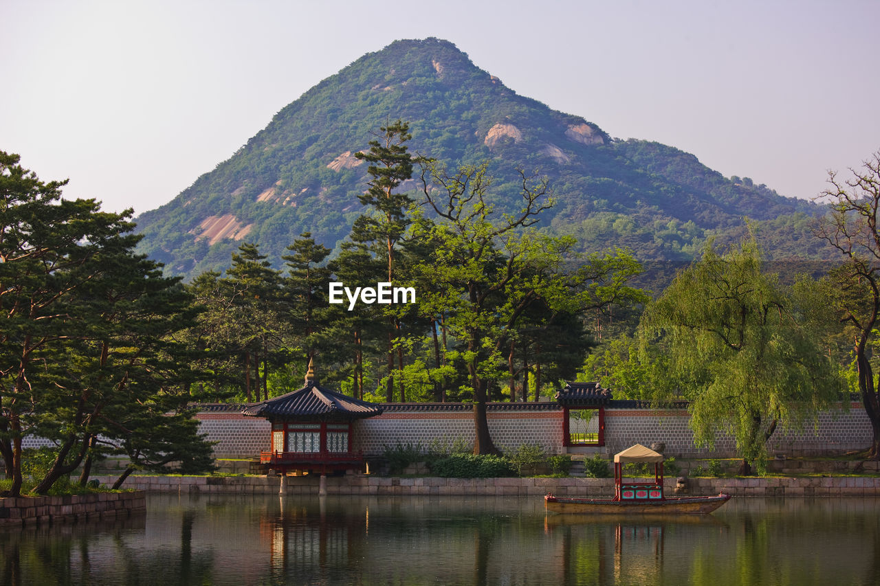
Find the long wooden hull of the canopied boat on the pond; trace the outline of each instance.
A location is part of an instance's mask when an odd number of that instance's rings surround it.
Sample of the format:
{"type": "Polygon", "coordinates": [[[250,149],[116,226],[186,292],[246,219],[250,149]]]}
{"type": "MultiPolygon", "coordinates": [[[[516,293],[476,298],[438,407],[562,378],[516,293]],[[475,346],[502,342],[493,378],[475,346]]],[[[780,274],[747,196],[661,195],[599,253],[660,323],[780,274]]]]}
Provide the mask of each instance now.
{"type": "Polygon", "coordinates": [[[544,508],[554,513],[596,515],[705,515],[725,502],[730,494],[715,496],[672,496],[658,501],[608,501],[605,499],[578,499],[547,494],[544,508]]]}

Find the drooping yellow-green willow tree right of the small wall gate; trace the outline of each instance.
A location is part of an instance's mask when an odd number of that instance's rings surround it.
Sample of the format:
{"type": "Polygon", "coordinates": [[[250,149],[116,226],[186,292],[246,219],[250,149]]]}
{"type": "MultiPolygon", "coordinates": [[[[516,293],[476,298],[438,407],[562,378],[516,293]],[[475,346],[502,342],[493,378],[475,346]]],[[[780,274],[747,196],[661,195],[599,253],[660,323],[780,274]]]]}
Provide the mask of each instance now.
{"type": "Polygon", "coordinates": [[[709,245],[642,316],[646,340],[661,337],[690,401],[697,445],[730,432],[741,473],[766,458],[782,424],[797,424],[837,399],[837,370],[776,275],[762,271],[754,239],[718,253],[709,245]]]}

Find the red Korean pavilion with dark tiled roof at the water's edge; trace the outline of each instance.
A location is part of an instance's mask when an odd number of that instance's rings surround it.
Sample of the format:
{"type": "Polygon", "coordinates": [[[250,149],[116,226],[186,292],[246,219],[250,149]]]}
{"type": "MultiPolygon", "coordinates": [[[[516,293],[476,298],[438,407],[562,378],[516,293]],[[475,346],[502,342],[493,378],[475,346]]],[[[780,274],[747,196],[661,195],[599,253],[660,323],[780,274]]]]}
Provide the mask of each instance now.
{"type": "Polygon", "coordinates": [[[309,361],[303,388],[255,403],[242,414],[272,423],[271,450],[260,453],[264,468],[324,475],[363,469],[363,454],[352,450],[354,421],[382,414],[382,408],[319,385],[309,361]]]}

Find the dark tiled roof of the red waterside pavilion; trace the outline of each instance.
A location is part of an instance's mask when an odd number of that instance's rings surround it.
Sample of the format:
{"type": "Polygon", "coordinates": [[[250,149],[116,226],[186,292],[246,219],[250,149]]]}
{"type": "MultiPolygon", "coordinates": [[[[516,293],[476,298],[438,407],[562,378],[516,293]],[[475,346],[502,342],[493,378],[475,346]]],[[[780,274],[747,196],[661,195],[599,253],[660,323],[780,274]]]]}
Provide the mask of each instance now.
{"type": "Polygon", "coordinates": [[[382,414],[382,407],[331,391],[316,381],[309,380],[302,389],[254,403],[241,413],[270,420],[299,417],[363,419],[382,414]]]}

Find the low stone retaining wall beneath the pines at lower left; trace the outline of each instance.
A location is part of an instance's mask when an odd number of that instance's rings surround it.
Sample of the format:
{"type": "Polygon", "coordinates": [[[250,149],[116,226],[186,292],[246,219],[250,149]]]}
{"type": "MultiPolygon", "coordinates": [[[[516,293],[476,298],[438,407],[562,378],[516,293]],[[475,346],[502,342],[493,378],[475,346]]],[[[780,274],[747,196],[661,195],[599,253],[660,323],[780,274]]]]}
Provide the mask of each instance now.
{"type": "Polygon", "coordinates": [[[131,516],[147,509],[143,492],[0,498],[0,526],[131,516]]]}

